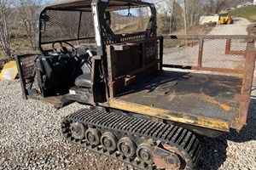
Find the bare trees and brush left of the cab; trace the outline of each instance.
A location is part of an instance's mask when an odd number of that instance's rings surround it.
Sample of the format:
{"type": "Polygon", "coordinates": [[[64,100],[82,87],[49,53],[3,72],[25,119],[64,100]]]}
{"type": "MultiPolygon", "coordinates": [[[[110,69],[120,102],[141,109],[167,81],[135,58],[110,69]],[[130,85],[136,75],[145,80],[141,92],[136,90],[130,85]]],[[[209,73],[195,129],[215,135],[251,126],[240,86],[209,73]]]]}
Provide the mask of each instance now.
{"type": "Polygon", "coordinates": [[[0,53],[7,58],[24,42],[35,49],[35,13],[39,0],[0,0],[0,53]],[[1,49],[1,48],[0,48],[1,49]]]}

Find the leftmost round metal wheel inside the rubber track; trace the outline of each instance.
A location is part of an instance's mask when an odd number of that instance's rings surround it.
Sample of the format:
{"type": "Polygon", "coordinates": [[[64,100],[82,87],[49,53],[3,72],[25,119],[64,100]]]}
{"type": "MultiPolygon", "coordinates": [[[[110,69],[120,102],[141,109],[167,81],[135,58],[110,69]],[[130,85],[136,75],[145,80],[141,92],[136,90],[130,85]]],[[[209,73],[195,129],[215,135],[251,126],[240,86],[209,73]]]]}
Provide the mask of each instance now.
{"type": "Polygon", "coordinates": [[[86,128],[83,123],[73,122],[70,125],[70,131],[75,139],[84,139],[85,130],[86,128]]]}

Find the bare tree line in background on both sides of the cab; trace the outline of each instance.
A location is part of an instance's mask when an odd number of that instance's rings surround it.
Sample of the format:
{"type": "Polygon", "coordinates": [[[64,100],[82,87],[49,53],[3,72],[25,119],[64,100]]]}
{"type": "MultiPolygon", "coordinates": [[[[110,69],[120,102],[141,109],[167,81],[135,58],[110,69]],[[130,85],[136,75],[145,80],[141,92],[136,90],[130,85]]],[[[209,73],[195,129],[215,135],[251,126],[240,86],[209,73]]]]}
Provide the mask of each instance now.
{"type": "MultiPolygon", "coordinates": [[[[217,14],[224,8],[236,7],[242,1],[162,0],[164,3],[156,4],[159,31],[169,33],[181,30],[184,28],[184,22],[190,28],[198,24],[201,15],[217,14]]],[[[0,56],[2,58],[3,56],[13,57],[22,46],[35,50],[35,14],[41,2],[42,0],[0,0],[0,56]]]]}

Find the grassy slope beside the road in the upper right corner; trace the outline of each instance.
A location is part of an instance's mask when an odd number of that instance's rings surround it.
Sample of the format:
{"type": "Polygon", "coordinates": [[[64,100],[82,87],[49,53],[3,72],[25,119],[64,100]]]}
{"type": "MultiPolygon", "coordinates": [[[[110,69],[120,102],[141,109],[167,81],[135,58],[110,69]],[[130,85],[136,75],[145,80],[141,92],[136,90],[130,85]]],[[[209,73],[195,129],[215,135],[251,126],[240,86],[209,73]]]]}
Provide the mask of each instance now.
{"type": "Polygon", "coordinates": [[[231,16],[242,17],[251,22],[256,21],[256,6],[236,8],[230,11],[231,16]]]}

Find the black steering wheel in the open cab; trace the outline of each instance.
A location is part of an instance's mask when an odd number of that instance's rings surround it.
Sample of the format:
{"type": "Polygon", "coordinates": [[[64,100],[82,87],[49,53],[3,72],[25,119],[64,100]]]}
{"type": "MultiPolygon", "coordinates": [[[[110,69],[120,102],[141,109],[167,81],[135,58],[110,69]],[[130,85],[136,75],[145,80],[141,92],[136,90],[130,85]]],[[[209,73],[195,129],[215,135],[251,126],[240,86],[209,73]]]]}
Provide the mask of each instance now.
{"type": "Polygon", "coordinates": [[[78,54],[77,49],[74,48],[71,43],[65,42],[65,41],[53,42],[52,43],[52,49],[54,50],[55,54],[59,54],[60,56],[65,55],[65,54],[69,54],[70,57],[75,57],[78,54]],[[60,45],[61,45],[60,52],[57,51],[57,49],[55,48],[56,43],[60,43],[60,45]],[[69,49],[67,49],[67,47],[63,46],[63,43],[66,43],[67,46],[71,48],[71,51],[69,49]]]}

